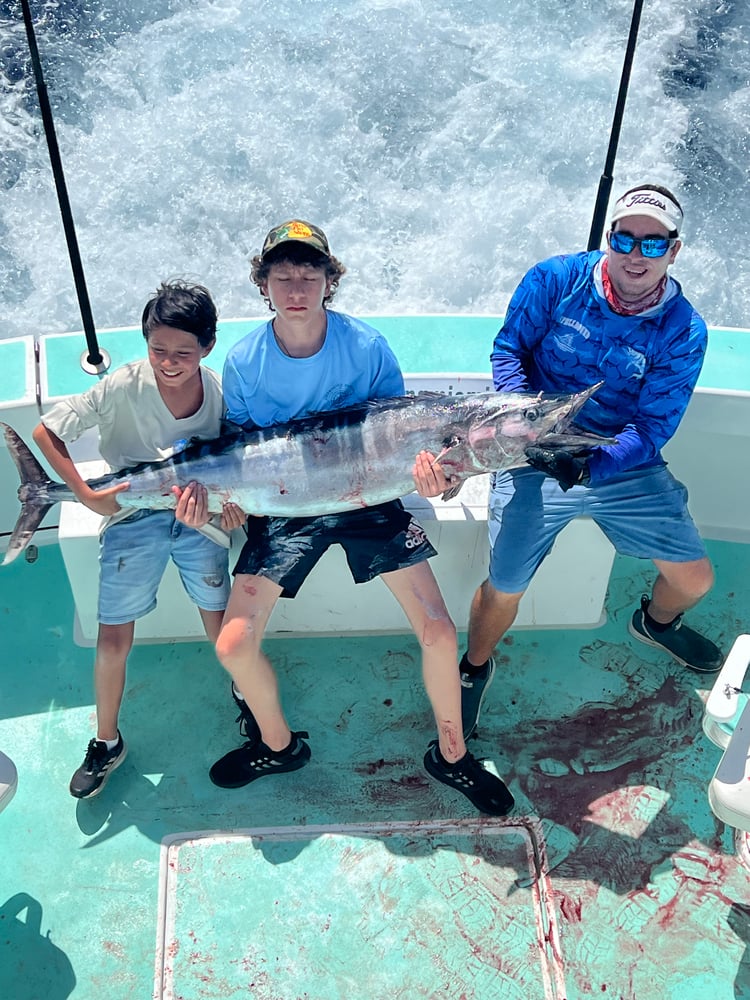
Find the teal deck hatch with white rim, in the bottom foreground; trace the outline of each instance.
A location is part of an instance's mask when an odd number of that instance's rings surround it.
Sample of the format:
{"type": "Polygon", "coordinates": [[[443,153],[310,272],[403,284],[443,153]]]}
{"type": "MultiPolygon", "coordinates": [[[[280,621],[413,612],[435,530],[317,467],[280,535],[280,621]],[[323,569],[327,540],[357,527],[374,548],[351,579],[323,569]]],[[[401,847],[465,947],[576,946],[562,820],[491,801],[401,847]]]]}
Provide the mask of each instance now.
{"type": "Polygon", "coordinates": [[[156,1000],[565,996],[534,818],[186,833],[159,890],[156,1000]]]}

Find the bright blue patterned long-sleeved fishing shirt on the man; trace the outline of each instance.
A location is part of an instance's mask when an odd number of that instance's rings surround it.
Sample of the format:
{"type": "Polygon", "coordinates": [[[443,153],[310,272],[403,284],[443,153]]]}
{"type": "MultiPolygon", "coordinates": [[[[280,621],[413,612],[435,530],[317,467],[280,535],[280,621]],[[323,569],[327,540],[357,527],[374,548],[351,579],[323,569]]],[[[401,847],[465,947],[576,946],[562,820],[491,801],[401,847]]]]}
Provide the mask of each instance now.
{"type": "Polygon", "coordinates": [[[706,324],[668,278],[661,302],[636,316],[607,304],[600,251],[542,261],[508,306],[490,355],[495,388],[572,393],[604,380],[576,418],[617,443],[594,449],[591,482],[663,461],[698,381],[706,324]]]}

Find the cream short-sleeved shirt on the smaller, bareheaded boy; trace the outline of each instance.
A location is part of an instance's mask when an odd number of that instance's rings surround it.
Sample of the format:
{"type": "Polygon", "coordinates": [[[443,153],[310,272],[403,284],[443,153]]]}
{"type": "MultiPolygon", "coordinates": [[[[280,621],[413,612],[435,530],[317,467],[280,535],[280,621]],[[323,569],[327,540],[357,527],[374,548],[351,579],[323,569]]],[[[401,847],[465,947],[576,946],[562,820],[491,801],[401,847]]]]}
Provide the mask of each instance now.
{"type": "MultiPolygon", "coordinates": [[[[89,428],[98,428],[99,452],[113,471],[138,462],[158,462],[181,451],[191,438],[219,436],[224,415],[221,379],[205,367],[201,367],[201,377],[203,403],[190,417],[178,419],[170,413],[153,369],[143,358],[105,375],[86,392],[55,403],[42,423],[66,444],[77,441],[89,428]]],[[[132,508],[123,508],[105,526],[132,513],[132,508]]]]}

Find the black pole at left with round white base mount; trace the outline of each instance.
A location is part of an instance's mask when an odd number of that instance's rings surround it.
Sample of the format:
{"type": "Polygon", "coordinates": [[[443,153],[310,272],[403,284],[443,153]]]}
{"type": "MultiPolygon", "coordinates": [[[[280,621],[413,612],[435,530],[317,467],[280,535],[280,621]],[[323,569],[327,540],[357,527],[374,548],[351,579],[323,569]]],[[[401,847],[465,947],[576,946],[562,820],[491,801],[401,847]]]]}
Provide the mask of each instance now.
{"type": "Polygon", "coordinates": [[[68,189],[65,184],[65,174],[63,172],[60,149],[57,145],[57,135],[55,134],[55,122],[52,117],[49,97],[47,96],[47,86],[44,82],[42,63],[39,58],[39,49],[36,44],[36,34],[34,33],[34,23],[31,19],[31,10],[28,0],[21,0],[23,8],[23,22],[26,26],[26,37],[29,42],[29,54],[31,64],[34,67],[34,77],[36,79],[36,92],[39,97],[39,108],[42,112],[42,123],[44,124],[44,134],[47,139],[47,149],[49,150],[50,163],[52,164],[52,176],[55,179],[57,188],[57,202],[60,206],[60,215],[65,229],[65,240],[68,244],[68,255],[70,265],[73,268],[73,280],[75,281],[76,292],[78,294],[78,307],[81,311],[81,321],[83,322],[83,332],[86,336],[88,351],[81,355],[81,367],[91,375],[102,375],[107,371],[111,362],[106,351],[101,351],[96,340],[96,330],[94,329],[94,318],[91,314],[91,304],[89,293],[86,288],[86,278],[83,274],[83,264],[81,254],[78,250],[78,239],[76,238],[75,224],[73,222],[73,212],[70,208],[68,189]]]}

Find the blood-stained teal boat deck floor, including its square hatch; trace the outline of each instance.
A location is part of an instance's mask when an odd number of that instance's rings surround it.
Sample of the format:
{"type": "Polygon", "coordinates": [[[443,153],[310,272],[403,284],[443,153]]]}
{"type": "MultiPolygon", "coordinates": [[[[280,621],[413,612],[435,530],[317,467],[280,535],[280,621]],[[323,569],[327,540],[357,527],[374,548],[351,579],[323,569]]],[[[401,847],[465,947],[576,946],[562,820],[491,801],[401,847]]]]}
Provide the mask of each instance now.
{"type": "MultiPolygon", "coordinates": [[[[718,583],[690,621],[728,650],[750,559],[709,550],[718,583]]],[[[76,802],[92,652],[57,547],[4,567],[0,750],[19,784],[0,813],[0,997],[750,1000],[750,873],[706,797],[710,679],[627,634],[650,579],[617,557],[605,625],[502,643],[471,749],[513,790],[504,824],[423,770],[409,636],[269,641],[313,759],[235,791],[207,774],[239,743],[210,647],[139,646],[129,756],[76,802]]]]}

